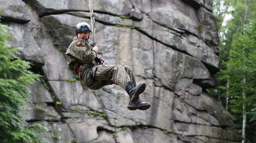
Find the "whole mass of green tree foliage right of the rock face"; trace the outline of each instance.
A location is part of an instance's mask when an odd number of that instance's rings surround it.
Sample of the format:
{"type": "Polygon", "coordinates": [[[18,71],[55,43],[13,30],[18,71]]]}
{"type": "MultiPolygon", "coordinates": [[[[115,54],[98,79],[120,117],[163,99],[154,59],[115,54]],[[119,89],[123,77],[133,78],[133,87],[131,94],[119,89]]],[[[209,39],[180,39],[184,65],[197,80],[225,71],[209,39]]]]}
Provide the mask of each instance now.
{"type": "Polygon", "coordinates": [[[223,105],[227,104],[226,98],[229,98],[229,111],[240,130],[243,105],[246,105],[246,142],[255,142],[256,1],[217,0],[214,7],[215,14],[224,21],[219,31],[221,71],[216,76],[219,86],[211,91],[223,105]],[[231,15],[231,19],[225,21],[227,14],[231,15]]]}

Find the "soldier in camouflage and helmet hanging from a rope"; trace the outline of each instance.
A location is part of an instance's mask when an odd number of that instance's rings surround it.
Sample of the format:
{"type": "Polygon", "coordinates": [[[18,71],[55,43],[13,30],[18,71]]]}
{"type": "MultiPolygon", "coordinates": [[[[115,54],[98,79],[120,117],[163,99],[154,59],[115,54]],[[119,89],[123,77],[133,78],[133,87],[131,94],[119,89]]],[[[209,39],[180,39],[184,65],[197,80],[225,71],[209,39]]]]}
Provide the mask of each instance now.
{"type": "Polygon", "coordinates": [[[99,48],[88,42],[90,33],[91,27],[88,23],[81,22],[76,25],[76,37],[66,52],[68,68],[75,71],[82,83],[90,89],[100,89],[113,83],[121,86],[130,97],[127,106],[129,110],[147,110],[150,103],[139,98],[146,84],[140,83],[136,86],[130,66],[103,65],[103,60],[97,57],[99,48]]]}

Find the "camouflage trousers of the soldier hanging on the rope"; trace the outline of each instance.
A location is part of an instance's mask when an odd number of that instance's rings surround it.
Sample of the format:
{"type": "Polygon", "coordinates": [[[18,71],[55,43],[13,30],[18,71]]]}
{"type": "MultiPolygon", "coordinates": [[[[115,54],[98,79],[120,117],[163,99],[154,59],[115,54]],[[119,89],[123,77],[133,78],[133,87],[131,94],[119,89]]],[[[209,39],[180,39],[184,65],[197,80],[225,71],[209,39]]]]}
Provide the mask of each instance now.
{"type": "Polygon", "coordinates": [[[112,85],[113,83],[125,89],[126,82],[128,81],[133,81],[134,86],[136,86],[132,68],[127,65],[101,64],[94,66],[91,72],[94,80],[89,76],[89,72],[87,74],[84,73],[82,79],[84,85],[90,89],[100,89],[103,86],[112,85]]]}

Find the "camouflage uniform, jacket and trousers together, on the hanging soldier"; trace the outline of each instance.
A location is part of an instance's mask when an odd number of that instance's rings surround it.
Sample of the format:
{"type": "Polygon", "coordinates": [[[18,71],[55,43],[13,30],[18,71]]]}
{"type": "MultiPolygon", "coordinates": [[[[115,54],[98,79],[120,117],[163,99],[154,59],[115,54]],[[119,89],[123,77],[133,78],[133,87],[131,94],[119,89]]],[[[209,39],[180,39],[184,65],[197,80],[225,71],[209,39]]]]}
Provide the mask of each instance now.
{"type": "Polygon", "coordinates": [[[79,78],[90,89],[100,89],[105,85],[116,83],[125,89],[126,83],[133,81],[136,86],[134,75],[130,66],[122,65],[96,65],[94,58],[97,52],[92,45],[83,39],[74,38],[69,45],[66,58],[70,70],[76,72],[79,69],[79,78]]]}

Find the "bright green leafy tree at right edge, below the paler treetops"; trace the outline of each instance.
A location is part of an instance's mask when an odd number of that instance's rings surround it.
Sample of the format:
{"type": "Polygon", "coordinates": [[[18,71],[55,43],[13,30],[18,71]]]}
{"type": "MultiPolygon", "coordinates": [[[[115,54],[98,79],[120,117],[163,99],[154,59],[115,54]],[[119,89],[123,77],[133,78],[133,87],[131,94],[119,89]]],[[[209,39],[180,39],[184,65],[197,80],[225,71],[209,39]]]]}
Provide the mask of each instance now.
{"type": "MultiPolygon", "coordinates": [[[[223,70],[223,77],[229,76],[229,92],[230,92],[230,111],[235,115],[238,127],[241,128],[242,115],[246,114],[247,130],[255,132],[256,114],[256,83],[255,83],[255,69],[256,69],[256,33],[250,29],[245,35],[238,36],[232,43],[230,50],[230,60],[226,63],[227,69],[223,70]],[[245,82],[244,82],[245,81],[245,82]],[[244,96],[243,96],[244,95],[244,96]],[[244,110],[243,106],[245,106],[244,110]],[[249,113],[249,114],[248,114],[249,113]]],[[[252,138],[253,135],[247,133],[246,138],[252,138]]],[[[253,136],[254,137],[254,136],[253,136]]]]}

